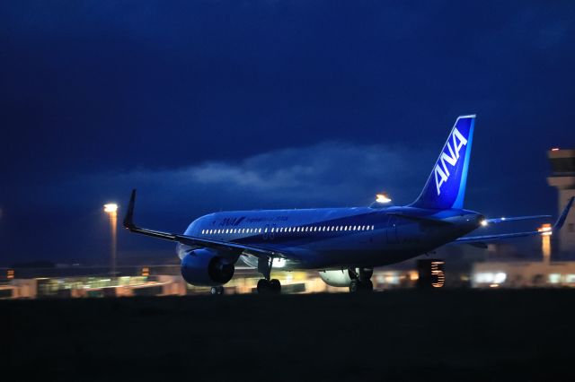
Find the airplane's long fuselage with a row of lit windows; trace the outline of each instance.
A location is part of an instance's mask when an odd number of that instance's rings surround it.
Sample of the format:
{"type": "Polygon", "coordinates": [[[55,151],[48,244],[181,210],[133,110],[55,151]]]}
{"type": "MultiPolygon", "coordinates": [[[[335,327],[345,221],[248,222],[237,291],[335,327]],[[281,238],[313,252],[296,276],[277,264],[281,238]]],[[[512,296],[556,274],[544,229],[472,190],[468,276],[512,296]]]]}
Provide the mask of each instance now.
{"type": "MultiPolygon", "coordinates": [[[[277,252],[284,269],[374,267],[420,256],[481,225],[482,214],[414,207],[355,207],[210,213],[185,235],[277,252]],[[286,258],[281,260],[281,257],[286,258]]],[[[179,244],[181,258],[194,247],[179,244]]],[[[243,253],[243,261],[257,257],[243,253]]]]}

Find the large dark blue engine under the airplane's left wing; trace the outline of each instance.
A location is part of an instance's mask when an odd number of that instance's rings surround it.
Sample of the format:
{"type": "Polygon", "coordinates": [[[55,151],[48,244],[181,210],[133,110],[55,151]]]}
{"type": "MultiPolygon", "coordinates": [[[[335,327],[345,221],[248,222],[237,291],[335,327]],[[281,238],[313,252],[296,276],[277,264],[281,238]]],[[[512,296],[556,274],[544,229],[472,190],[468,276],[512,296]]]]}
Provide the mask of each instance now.
{"type": "Polygon", "coordinates": [[[234,260],[213,249],[194,249],[181,259],[181,276],[192,285],[223,285],[234,276],[234,260]]]}

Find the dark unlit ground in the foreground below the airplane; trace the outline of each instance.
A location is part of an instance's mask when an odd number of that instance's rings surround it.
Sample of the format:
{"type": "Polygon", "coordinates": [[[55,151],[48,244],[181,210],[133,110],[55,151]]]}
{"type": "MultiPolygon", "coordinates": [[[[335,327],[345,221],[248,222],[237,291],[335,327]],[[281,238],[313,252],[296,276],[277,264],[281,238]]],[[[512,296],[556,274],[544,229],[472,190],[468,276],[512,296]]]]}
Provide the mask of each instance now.
{"type": "Polygon", "coordinates": [[[571,290],[3,300],[2,369],[13,380],[573,380],[574,302],[571,290]]]}

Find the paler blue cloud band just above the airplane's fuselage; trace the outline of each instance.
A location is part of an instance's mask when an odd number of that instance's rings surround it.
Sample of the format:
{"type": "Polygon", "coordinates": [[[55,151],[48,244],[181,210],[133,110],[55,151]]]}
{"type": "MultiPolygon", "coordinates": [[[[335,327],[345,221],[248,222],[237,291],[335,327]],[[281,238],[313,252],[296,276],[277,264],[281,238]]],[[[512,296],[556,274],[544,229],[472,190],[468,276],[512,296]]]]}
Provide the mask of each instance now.
{"type": "Polygon", "coordinates": [[[94,204],[114,195],[123,200],[131,188],[138,188],[138,194],[158,210],[178,205],[188,213],[363,205],[382,190],[401,193],[400,199],[409,202],[423,186],[430,158],[426,152],[383,144],[326,142],[265,152],[242,161],[93,174],[54,184],[48,195],[52,204],[94,204]]]}

